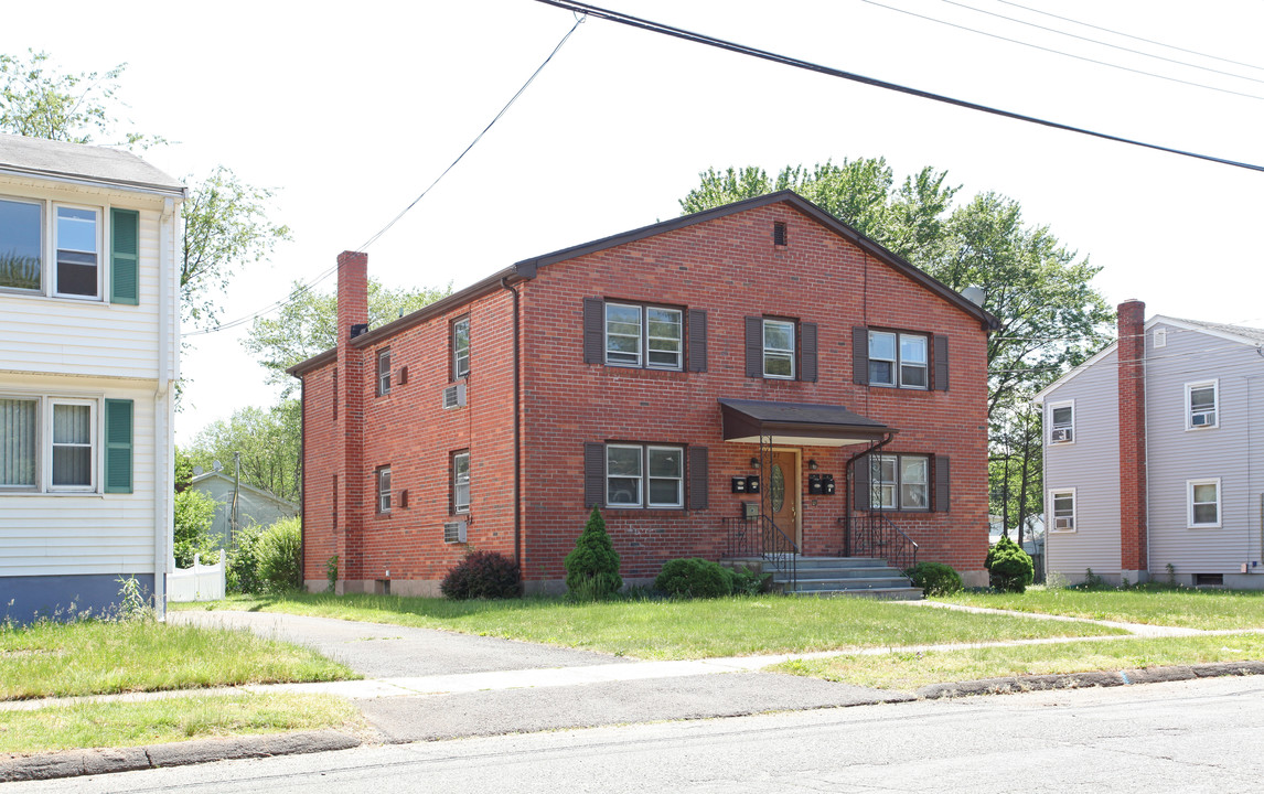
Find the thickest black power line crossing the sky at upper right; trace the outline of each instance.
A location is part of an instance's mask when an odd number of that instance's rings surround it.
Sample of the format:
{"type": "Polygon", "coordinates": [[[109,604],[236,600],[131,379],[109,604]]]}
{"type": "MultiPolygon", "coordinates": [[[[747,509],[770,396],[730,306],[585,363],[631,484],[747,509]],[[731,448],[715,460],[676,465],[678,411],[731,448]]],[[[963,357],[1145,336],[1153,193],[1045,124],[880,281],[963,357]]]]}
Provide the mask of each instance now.
{"type": "Polygon", "coordinates": [[[691,30],[685,30],[683,28],[674,28],[671,25],[665,25],[662,23],[651,21],[648,19],[641,19],[638,16],[631,16],[628,14],[622,14],[618,11],[611,11],[595,5],[589,5],[586,3],[574,3],[573,0],[536,0],[536,3],[544,3],[545,5],[552,5],[560,9],[566,9],[576,14],[588,14],[598,19],[604,19],[607,21],[614,21],[622,25],[628,25],[632,28],[640,28],[642,30],[648,30],[651,33],[660,33],[662,35],[670,35],[674,38],[684,39],[686,42],[693,42],[695,44],[705,44],[708,47],[715,47],[718,49],[724,49],[742,56],[750,56],[752,58],[762,58],[765,61],[771,61],[774,63],[780,63],[782,66],[791,66],[794,68],[805,70],[809,72],[817,72],[819,75],[828,75],[830,77],[838,77],[841,80],[849,80],[852,82],[858,82],[867,86],[873,86],[876,89],[885,89],[887,91],[895,91],[899,94],[906,94],[909,96],[916,96],[920,99],[928,99],[935,102],[943,102],[945,105],[953,105],[956,107],[964,107],[966,110],[976,110],[978,113],[986,113],[995,116],[1001,116],[1005,119],[1014,119],[1015,121],[1026,121],[1028,124],[1038,124],[1040,126],[1048,126],[1052,129],[1059,129],[1067,133],[1077,133],[1079,135],[1090,135],[1092,138],[1101,138],[1103,140],[1114,140],[1115,143],[1124,143],[1133,147],[1140,147],[1144,149],[1154,149],[1157,152],[1167,152],[1168,154],[1177,154],[1181,157],[1189,157],[1193,159],[1207,161],[1211,163],[1220,163],[1221,166],[1232,166],[1234,168],[1245,168],[1248,171],[1260,171],[1264,172],[1264,166],[1256,166],[1253,163],[1245,163],[1240,161],[1232,161],[1224,157],[1215,157],[1211,154],[1198,154],[1196,152],[1188,152],[1184,149],[1177,149],[1173,147],[1164,147],[1155,143],[1145,143],[1143,140],[1135,140],[1133,138],[1124,138],[1121,135],[1111,135],[1109,133],[1098,133],[1095,130],[1085,129],[1081,126],[1072,126],[1069,124],[1062,124],[1058,121],[1050,121],[1048,119],[1039,119],[1035,116],[1023,115],[1020,113],[1012,113],[1009,110],[1001,110],[999,107],[991,107],[988,105],[980,105],[978,102],[969,102],[966,100],[953,99],[951,96],[944,96],[943,94],[934,94],[932,91],[923,91],[920,89],[911,89],[909,86],[901,86],[899,83],[889,82],[885,80],[877,80],[875,77],[865,77],[863,75],[857,75],[854,72],[846,72],[843,70],[837,70],[828,66],[822,66],[819,63],[813,63],[811,61],[804,61],[801,58],[794,58],[790,56],[782,56],[766,49],[758,49],[756,47],[747,47],[746,44],[737,44],[726,39],[719,39],[712,35],[705,35],[703,33],[694,33],[691,30]]]}

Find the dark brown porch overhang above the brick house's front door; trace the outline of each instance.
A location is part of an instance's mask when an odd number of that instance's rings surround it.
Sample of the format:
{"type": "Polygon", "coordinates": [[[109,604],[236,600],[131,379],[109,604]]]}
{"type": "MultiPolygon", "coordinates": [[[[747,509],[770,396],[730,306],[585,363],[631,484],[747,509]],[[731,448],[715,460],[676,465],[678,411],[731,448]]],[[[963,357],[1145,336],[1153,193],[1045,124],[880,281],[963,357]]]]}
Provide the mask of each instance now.
{"type": "Polygon", "coordinates": [[[842,406],[720,398],[724,440],[786,446],[873,444],[899,432],[842,406]]]}

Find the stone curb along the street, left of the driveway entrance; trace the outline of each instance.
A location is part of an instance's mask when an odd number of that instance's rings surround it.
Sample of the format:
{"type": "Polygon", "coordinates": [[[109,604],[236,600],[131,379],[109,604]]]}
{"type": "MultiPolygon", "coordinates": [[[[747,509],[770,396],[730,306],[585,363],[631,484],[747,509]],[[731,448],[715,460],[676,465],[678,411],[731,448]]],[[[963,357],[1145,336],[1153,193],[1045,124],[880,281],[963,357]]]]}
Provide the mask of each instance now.
{"type": "Polygon", "coordinates": [[[142,769],[187,766],[211,761],[264,759],[359,747],[360,740],[341,731],[303,731],[233,738],[200,738],[148,747],[64,750],[0,760],[0,783],[53,780],[80,775],[129,773],[142,769]]]}

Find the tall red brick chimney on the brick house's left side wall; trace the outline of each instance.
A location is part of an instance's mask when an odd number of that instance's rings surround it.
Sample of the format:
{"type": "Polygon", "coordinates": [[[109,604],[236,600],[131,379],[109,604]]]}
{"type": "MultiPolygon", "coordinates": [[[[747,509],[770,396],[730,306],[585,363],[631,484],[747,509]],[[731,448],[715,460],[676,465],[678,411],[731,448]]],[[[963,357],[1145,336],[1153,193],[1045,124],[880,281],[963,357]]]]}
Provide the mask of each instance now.
{"type": "Polygon", "coordinates": [[[369,322],[369,255],[344,250],[337,255],[337,384],[341,403],[337,411],[339,450],[337,487],[339,577],[345,592],[363,589],[362,540],[368,521],[373,473],[365,472],[364,458],[364,373],[365,353],[351,346],[351,333],[369,322]]]}

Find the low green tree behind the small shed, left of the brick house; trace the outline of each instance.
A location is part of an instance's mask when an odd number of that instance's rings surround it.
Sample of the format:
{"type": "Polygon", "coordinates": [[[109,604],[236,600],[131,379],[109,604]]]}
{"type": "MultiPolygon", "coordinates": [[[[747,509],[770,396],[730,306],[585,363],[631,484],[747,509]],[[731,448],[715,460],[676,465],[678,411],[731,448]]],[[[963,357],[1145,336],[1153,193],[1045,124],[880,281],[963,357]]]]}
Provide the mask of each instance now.
{"type": "Polygon", "coordinates": [[[283,400],[272,408],[246,407],[211,422],[188,446],[193,464],[210,470],[215,460],[233,473],[233,454],[241,454],[241,482],[283,499],[298,501],[302,479],[301,406],[283,400]]]}

